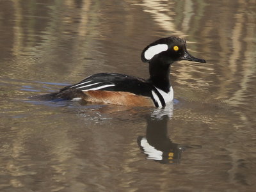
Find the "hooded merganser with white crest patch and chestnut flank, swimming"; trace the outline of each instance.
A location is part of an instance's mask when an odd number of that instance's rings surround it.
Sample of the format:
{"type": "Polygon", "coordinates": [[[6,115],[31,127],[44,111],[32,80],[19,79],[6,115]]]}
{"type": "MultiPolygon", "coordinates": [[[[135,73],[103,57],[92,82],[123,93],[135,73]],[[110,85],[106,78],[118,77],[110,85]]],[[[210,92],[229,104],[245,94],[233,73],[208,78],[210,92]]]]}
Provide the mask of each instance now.
{"type": "Polygon", "coordinates": [[[42,96],[122,106],[164,108],[173,100],[173,89],[169,80],[170,65],[180,60],[206,63],[205,60],[191,56],[186,49],[186,40],[175,36],[161,38],[145,47],[141,60],[149,63],[149,79],[100,73],[66,86],[60,92],[42,96]]]}

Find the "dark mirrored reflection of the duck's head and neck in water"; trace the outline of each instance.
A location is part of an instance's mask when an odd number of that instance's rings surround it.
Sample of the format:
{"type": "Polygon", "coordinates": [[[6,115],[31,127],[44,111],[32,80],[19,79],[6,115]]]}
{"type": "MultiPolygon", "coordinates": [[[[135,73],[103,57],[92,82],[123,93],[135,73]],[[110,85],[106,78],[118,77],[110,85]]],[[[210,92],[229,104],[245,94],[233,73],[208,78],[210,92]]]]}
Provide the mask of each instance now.
{"type": "Polygon", "coordinates": [[[182,152],[186,148],[202,148],[200,145],[180,145],[173,143],[168,136],[168,120],[172,117],[172,106],[156,109],[147,116],[146,136],[138,137],[138,145],[147,155],[147,159],[159,163],[180,163],[182,152]]]}

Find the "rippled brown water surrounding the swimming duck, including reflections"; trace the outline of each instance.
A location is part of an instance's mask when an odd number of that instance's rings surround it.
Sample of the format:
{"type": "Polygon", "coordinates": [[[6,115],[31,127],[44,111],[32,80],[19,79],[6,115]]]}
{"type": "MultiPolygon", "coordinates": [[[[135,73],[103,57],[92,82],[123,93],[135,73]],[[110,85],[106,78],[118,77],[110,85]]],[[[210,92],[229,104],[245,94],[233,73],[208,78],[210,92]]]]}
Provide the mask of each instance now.
{"type": "Polygon", "coordinates": [[[256,1],[0,1],[0,191],[255,191],[256,1]],[[166,109],[38,102],[186,38],[166,109]]]}

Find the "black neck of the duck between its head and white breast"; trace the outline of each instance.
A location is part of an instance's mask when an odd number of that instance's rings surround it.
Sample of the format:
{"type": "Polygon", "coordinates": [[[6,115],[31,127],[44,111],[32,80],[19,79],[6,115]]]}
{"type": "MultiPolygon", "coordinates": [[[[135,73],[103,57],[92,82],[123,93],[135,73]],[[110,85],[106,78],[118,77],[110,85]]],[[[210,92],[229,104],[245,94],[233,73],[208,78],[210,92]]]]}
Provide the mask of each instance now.
{"type": "Polygon", "coordinates": [[[148,81],[164,92],[170,91],[170,64],[161,61],[150,61],[148,81]]]}

